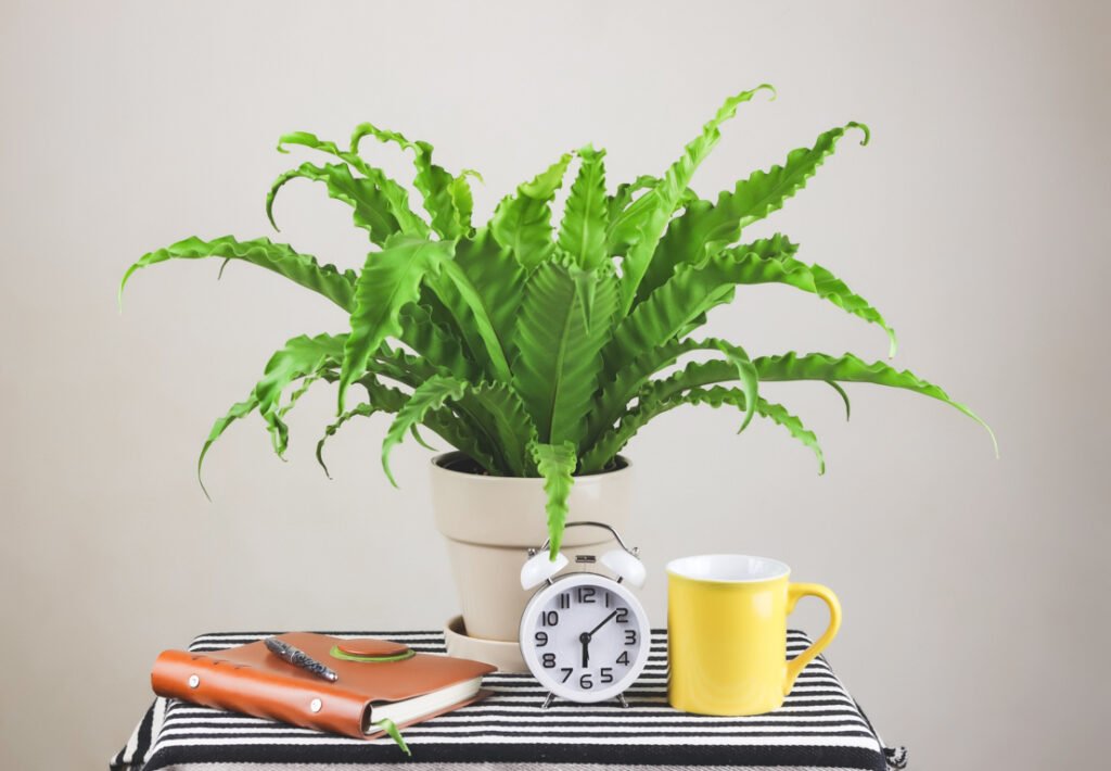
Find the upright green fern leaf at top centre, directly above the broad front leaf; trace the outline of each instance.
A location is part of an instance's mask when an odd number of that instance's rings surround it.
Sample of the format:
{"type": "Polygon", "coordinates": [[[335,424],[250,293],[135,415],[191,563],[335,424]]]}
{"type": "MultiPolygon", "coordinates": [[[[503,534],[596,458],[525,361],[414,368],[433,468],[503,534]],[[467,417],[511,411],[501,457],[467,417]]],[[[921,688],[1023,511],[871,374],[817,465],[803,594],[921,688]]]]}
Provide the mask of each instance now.
{"type": "Polygon", "coordinates": [[[559,246],[580,268],[592,270],[607,257],[605,150],[588,145],[578,155],[582,165],[567,199],[559,246]]]}

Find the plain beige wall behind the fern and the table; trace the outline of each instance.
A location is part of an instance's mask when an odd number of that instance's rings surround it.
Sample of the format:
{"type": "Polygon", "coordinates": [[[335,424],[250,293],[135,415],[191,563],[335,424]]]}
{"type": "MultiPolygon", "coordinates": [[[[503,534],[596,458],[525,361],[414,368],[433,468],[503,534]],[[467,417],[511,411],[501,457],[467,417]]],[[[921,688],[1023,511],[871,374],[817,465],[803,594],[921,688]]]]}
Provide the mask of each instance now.
{"type": "MultiPolygon", "coordinates": [[[[270,353],[340,330],[326,302],[252,268],[160,266],[188,235],[267,235],[300,162],[273,147],[361,120],[486,176],[478,211],[585,141],[611,185],[662,171],[727,95],[762,81],[695,180],[705,197],[822,130],[863,120],[773,229],[872,299],[895,363],[939,403],[774,388],[823,441],[677,412],[631,446],[644,596],[663,563],[778,556],[833,586],[829,656],[918,769],[1101,764],[1107,716],[1109,411],[1107,3],[0,3],[0,757],[103,768],[146,709],[157,653],[214,630],[438,626],[456,609],[429,455],[378,465],[384,425],[312,451],[332,393],[293,415],[290,463],[261,423],[193,475],[212,419],[270,353]],[[317,535],[307,536],[304,523],[317,535]]],[[[406,159],[382,152],[400,175],[406,159]]],[[[366,251],[311,185],[282,237],[343,266],[366,251]]],[[[712,332],[750,352],[885,354],[817,299],[753,288],[712,332]]],[[[772,387],[769,387],[769,392],[772,387]]],[[[803,609],[797,623],[824,616],[803,609]]]]}

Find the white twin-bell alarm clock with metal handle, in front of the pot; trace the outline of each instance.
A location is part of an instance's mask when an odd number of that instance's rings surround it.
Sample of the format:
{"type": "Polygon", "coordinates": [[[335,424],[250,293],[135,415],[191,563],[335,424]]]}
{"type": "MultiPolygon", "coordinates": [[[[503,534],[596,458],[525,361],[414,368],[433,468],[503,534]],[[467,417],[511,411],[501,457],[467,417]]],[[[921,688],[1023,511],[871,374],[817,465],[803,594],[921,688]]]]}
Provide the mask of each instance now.
{"type": "Polygon", "coordinates": [[[651,643],[648,614],[625,584],[644,583],[644,565],[617,531],[597,522],[572,522],[568,527],[608,530],[620,548],[600,557],[580,554],[578,564],[600,563],[618,575],[569,573],[554,577],[569,560],[562,553],[549,559],[548,542],[529,550],[521,569],[521,586],[543,586],[532,595],[521,616],[521,655],[529,671],[548,689],[543,706],[554,696],[575,702],[618,699],[640,675],[651,643]]]}

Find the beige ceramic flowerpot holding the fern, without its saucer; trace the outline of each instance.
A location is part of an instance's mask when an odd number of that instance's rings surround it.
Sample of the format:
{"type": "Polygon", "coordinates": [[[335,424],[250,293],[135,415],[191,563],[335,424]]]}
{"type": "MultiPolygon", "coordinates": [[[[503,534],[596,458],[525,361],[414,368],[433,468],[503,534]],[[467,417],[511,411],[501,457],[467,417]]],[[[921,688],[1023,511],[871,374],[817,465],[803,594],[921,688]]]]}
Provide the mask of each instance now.
{"type": "MultiPolygon", "coordinates": [[[[618,462],[614,471],[575,477],[568,522],[602,522],[624,534],[632,517],[632,469],[624,458],[618,462]]],[[[539,548],[548,537],[547,497],[543,480],[487,476],[471,469],[473,464],[462,453],[432,459],[436,526],[448,540],[462,605],[463,629],[456,622],[449,637],[454,635],[457,643],[460,636],[501,642],[504,649],[508,642],[516,645],[521,613],[532,595],[521,589],[519,576],[528,550],[539,548]]],[[[575,570],[577,554],[594,554],[611,543],[598,527],[569,530],[562,546],[571,560],[568,570],[575,570]]],[[[469,652],[473,658],[473,645],[469,652]]]]}

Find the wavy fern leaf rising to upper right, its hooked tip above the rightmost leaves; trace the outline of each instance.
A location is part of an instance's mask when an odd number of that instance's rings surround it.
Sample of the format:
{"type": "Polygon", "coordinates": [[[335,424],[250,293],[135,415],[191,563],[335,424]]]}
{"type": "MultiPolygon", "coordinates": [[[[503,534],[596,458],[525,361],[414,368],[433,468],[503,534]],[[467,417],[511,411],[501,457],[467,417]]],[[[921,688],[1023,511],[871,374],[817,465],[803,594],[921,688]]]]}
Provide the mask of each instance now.
{"type": "Polygon", "coordinates": [[[715,205],[704,200],[688,204],[683,214],[668,225],[668,233],[637,290],[637,302],[642,302],[667,281],[678,266],[701,263],[737,243],[742,228],[782,208],[789,198],[807,186],[818,167],[833,155],[838,140],[852,128],[863,131],[861,145],[867,145],[868,127],[850,122],[822,134],[814,140],[813,147],[792,150],[783,166],[757,171],[737,182],[734,189],[718,196],[715,205]]]}

